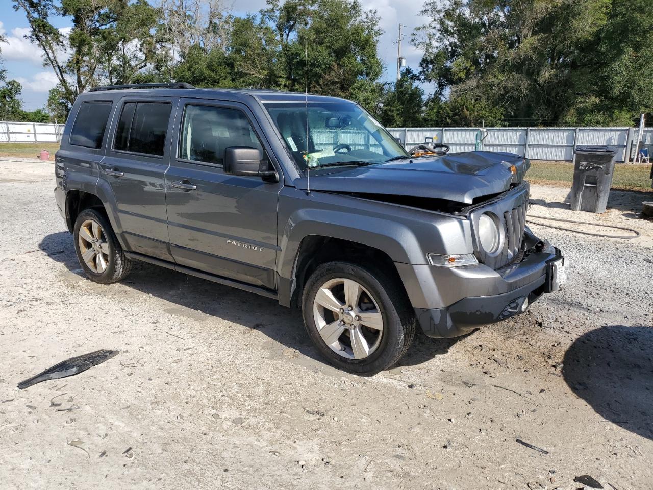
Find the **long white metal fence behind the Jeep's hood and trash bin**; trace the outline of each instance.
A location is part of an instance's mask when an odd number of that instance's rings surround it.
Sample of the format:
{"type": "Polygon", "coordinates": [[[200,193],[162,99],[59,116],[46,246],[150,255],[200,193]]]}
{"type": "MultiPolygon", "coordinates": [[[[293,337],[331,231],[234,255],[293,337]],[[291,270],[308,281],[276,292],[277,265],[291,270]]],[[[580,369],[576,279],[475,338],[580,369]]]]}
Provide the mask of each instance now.
{"type": "MultiPolygon", "coordinates": [[[[635,127],[487,127],[488,135],[481,142],[486,151],[510,152],[532,160],[572,160],[575,148],[582,145],[610,146],[616,150],[617,161],[626,155],[635,156],[635,127]]],[[[406,149],[433,138],[447,144],[451,152],[475,149],[478,127],[393,127],[392,136],[401,140],[406,149]]],[[[647,127],[642,137],[643,148],[653,154],[653,128],[647,127]]]]}

